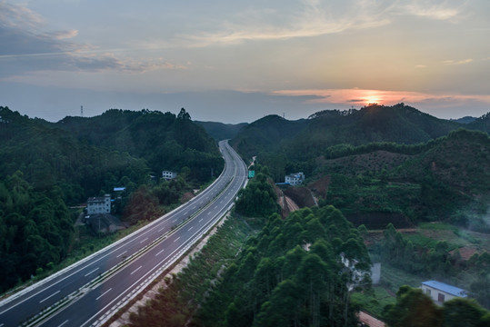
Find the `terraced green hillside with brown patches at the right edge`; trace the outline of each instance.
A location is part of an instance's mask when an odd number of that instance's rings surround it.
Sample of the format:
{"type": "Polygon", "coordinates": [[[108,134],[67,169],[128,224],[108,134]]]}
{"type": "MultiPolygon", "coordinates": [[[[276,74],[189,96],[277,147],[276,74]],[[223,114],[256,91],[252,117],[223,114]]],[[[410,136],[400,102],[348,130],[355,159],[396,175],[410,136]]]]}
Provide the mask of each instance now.
{"type": "Polygon", "coordinates": [[[459,129],[426,144],[365,144],[327,151],[315,180],[329,176],[322,203],[375,228],[444,220],[487,231],[488,134],[459,129]]]}

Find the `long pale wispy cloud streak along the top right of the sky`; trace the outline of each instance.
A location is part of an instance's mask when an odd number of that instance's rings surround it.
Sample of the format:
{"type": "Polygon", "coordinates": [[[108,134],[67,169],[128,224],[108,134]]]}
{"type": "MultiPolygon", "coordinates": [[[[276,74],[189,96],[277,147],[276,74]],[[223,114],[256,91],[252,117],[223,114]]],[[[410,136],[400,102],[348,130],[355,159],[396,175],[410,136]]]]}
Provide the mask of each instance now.
{"type": "Polygon", "coordinates": [[[345,0],[341,4],[318,0],[303,0],[294,12],[278,9],[271,13],[250,10],[248,14],[231,15],[221,24],[220,31],[199,35],[184,35],[193,46],[235,45],[245,41],[285,40],[338,34],[350,30],[365,30],[390,25],[397,15],[415,15],[435,20],[455,20],[463,16],[464,5],[447,1],[415,1],[409,5],[392,0],[345,0]],[[246,17],[246,18],[244,18],[246,17]],[[272,22],[272,23],[271,23],[272,22]]]}

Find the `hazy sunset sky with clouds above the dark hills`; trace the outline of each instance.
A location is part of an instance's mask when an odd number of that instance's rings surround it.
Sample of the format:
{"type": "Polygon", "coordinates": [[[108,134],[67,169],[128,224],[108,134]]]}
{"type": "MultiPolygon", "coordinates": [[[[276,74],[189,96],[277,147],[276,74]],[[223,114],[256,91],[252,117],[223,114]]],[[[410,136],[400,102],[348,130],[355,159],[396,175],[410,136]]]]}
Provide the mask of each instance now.
{"type": "Polygon", "coordinates": [[[0,0],[0,105],[251,123],[405,103],[490,112],[489,0],[0,0]]]}

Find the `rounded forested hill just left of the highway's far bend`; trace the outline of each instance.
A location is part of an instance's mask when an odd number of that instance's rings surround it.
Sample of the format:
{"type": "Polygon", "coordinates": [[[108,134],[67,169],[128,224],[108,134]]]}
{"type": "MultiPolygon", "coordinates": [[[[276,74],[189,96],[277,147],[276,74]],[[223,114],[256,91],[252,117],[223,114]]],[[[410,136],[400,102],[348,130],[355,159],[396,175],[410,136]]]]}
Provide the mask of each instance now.
{"type": "Polygon", "coordinates": [[[155,174],[187,166],[202,182],[223,166],[215,141],[184,108],[177,115],[111,109],[91,118],[66,117],[55,125],[88,144],[144,158],[155,174]]]}

